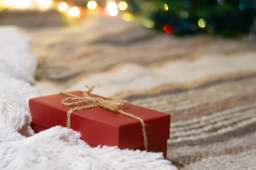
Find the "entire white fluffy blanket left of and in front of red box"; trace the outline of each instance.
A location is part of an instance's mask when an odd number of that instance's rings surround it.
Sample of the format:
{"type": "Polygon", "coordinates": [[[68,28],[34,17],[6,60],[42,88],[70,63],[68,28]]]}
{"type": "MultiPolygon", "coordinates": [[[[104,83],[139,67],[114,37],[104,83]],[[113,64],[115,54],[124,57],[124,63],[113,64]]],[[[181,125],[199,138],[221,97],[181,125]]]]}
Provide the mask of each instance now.
{"type": "Polygon", "coordinates": [[[177,170],[161,153],[91,148],[80,134],[52,127],[35,134],[28,101],[39,96],[29,38],[0,28],[0,170],[177,170]]]}

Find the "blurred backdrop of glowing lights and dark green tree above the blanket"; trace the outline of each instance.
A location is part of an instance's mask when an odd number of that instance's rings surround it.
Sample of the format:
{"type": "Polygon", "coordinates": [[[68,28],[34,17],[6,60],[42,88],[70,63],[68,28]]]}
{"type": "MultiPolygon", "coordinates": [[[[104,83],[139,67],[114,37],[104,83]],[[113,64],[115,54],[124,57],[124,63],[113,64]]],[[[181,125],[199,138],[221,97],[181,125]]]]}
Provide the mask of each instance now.
{"type": "Polygon", "coordinates": [[[255,3],[255,0],[0,0],[0,23],[60,26],[84,20],[88,15],[103,15],[173,35],[238,37],[255,34],[255,3]]]}

